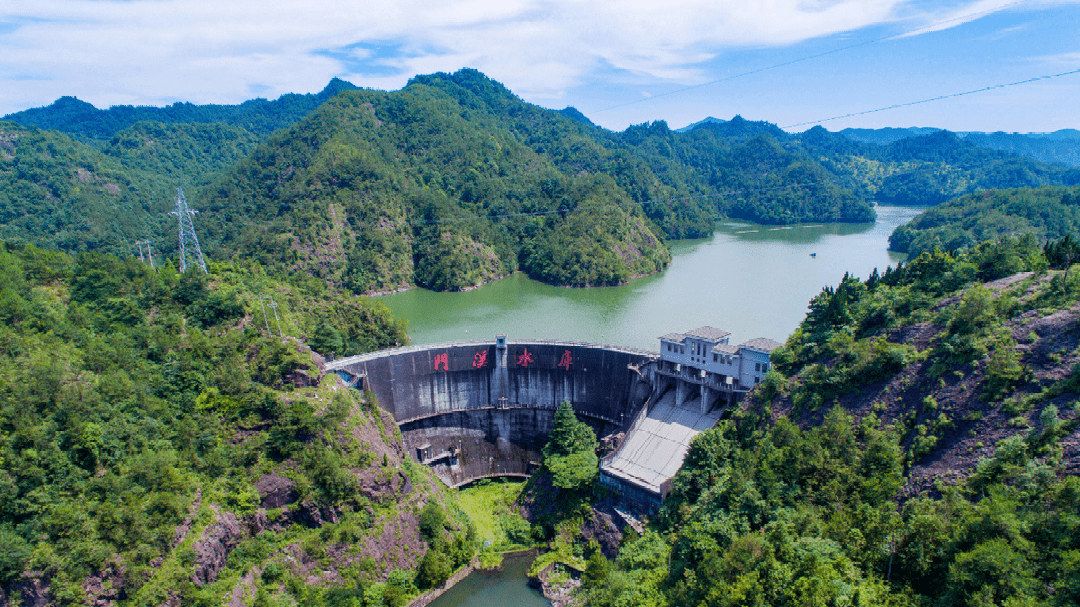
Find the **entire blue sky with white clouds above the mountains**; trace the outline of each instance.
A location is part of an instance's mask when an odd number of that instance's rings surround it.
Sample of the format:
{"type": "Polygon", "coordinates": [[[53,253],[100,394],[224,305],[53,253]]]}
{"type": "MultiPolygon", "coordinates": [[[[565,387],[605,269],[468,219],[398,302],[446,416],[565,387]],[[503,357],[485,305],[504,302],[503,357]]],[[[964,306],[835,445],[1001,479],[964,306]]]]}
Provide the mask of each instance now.
{"type": "Polygon", "coordinates": [[[474,67],[615,130],[854,113],[821,124],[1047,132],[1080,129],[1080,73],[860,112],[1080,70],[1078,31],[1080,0],[6,0],[0,116],[62,95],[235,104],[334,77],[395,90],[474,67]]]}

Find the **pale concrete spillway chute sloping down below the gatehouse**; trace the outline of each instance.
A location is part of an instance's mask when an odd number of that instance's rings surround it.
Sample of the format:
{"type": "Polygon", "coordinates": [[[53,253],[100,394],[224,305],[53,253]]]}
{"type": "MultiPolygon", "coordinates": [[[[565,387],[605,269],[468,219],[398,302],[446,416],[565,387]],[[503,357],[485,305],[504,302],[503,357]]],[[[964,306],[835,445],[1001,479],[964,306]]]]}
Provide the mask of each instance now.
{"type": "Polygon", "coordinates": [[[700,397],[676,403],[674,390],[649,404],[625,440],[600,463],[600,482],[648,507],[659,505],[690,440],[716,426],[727,407],[702,412],[700,397]]]}

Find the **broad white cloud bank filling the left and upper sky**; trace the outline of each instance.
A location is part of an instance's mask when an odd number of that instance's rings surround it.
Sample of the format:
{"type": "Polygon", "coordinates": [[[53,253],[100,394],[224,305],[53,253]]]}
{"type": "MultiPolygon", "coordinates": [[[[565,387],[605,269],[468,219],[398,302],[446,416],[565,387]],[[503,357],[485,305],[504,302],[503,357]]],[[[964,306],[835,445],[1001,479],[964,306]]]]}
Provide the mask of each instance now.
{"type": "Polygon", "coordinates": [[[600,68],[702,82],[710,76],[698,65],[725,49],[900,18],[951,27],[1002,4],[935,12],[912,0],[9,0],[0,8],[0,26],[12,24],[0,27],[0,114],[70,94],[99,107],[239,103],[252,90],[318,91],[335,76],[393,89],[464,66],[526,98],[555,99],[600,68]]]}

